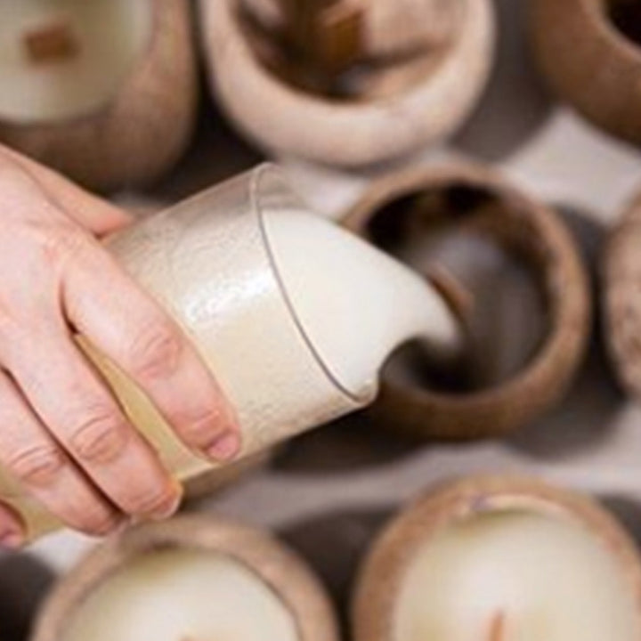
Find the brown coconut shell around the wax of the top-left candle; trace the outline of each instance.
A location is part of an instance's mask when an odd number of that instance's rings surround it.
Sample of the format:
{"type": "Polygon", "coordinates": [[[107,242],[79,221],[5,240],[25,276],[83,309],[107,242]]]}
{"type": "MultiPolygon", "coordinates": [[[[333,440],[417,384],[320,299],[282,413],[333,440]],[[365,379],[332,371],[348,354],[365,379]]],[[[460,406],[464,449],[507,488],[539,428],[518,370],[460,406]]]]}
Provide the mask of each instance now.
{"type": "MultiPolygon", "coordinates": [[[[143,2],[149,4],[149,43],[108,101],[70,118],[7,118],[0,110],[0,142],[100,191],[150,183],[165,173],[189,142],[195,118],[190,7],[183,0],[143,2]]],[[[26,37],[38,60],[82,55],[64,25],[26,37]]],[[[4,91],[1,85],[2,77],[4,91]]]]}

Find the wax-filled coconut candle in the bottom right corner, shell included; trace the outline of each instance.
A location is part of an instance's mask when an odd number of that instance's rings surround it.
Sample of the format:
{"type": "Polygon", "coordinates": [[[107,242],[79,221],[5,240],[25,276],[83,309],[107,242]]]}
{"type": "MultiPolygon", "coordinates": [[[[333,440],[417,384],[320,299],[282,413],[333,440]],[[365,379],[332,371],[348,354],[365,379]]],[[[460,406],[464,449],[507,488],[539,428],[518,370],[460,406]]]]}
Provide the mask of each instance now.
{"type": "Polygon", "coordinates": [[[641,564],[610,515],[523,479],[418,501],[365,566],[356,641],[636,641],[641,564]]]}

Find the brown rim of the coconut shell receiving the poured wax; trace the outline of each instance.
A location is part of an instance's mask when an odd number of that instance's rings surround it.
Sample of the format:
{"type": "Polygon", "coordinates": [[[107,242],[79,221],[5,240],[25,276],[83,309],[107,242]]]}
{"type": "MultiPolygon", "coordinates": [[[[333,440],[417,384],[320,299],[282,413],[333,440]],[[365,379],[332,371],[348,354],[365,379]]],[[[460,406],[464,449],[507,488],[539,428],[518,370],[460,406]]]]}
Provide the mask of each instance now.
{"type": "MultiPolygon", "coordinates": [[[[578,311],[572,312],[567,296],[563,292],[548,288],[546,279],[546,310],[549,311],[556,302],[554,318],[548,323],[548,330],[542,338],[538,349],[531,357],[523,363],[514,376],[499,381],[498,384],[484,386],[469,393],[448,393],[446,391],[432,390],[428,387],[415,385],[394,385],[388,381],[382,382],[383,395],[388,394],[394,402],[394,411],[386,411],[384,406],[374,408],[375,414],[379,414],[387,423],[403,427],[403,417],[399,416],[402,409],[411,407],[419,414],[425,414],[425,433],[444,438],[470,438],[477,436],[505,434],[515,427],[510,418],[505,414],[500,417],[505,426],[497,426],[475,432],[474,426],[462,426],[461,430],[453,432],[450,429],[441,430],[439,426],[434,429],[429,426],[430,417],[428,411],[433,406],[450,412],[452,416],[461,412],[462,416],[467,414],[483,414],[492,417],[513,406],[518,406],[531,394],[531,386],[537,391],[546,392],[554,397],[544,403],[548,409],[553,405],[571,384],[572,378],[579,368],[591,333],[592,300],[589,291],[588,273],[578,247],[565,224],[556,214],[552,207],[532,199],[520,189],[513,186],[503,177],[502,174],[485,166],[470,162],[459,162],[443,166],[412,167],[402,170],[396,174],[390,174],[382,179],[371,183],[361,198],[353,204],[340,219],[340,223],[346,229],[366,237],[367,226],[376,215],[380,207],[385,207],[394,199],[402,198],[410,193],[423,189],[439,189],[452,184],[465,184],[478,187],[496,194],[502,202],[515,204],[520,211],[527,215],[540,232],[546,247],[554,247],[553,255],[556,256],[554,269],[548,270],[556,273],[555,281],[565,281],[566,288],[572,288],[578,301],[578,311]],[[568,285],[569,283],[569,285],[568,285]],[[574,317],[580,321],[573,320],[574,317]],[[568,341],[568,335],[575,334],[572,341],[568,341]],[[564,367],[551,368],[550,364],[556,360],[556,352],[559,346],[563,345],[566,353],[564,367]],[[570,347],[568,347],[570,345],[570,347]],[[532,382],[533,381],[533,382],[532,382]],[[423,405],[426,407],[423,407],[423,405]],[[429,404],[429,408],[427,407],[429,404]],[[401,407],[403,406],[403,408],[401,407]],[[464,414],[465,413],[465,414],[464,414]]],[[[548,272],[546,272],[547,275],[548,272]]],[[[533,413],[527,421],[534,416],[540,415],[542,410],[533,413]]],[[[498,418],[499,421],[499,418],[498,418]]],[[[526,421],[526,422],[527,422],[526,421]]],[[[415,420],[411,422],[416,422],[415,420]]],[[[411,426],[408,431],[414,434],[421,434],[422,428],[411,426]]]]}

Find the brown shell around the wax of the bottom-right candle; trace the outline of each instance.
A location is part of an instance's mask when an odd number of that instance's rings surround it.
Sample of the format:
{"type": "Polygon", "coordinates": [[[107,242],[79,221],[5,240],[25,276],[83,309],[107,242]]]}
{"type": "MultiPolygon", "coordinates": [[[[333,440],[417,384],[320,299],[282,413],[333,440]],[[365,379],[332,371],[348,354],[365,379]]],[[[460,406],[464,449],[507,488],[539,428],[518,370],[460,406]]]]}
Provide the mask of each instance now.
{"type": "MultiPolygon", "coordinates": [[[[473,476],[428,491],[387,525],[369,550],[355,589],[354,641],[397,641],[400,594],[418,553],[448,527],[499,512],[548,515],[550,519],[574,523],[580,530],[587,531],[607,554],[613,556],[615,572],[620,572],[621,580],[629,585],[632,609],[641,612],[641,560],[637,548],[629,534],[603,507],[588,498],[534,479],[473,476]]],[[[550,568],[550,572],[557,571],[560,572],[554,566],[550,568]]],[[[502,580],[506,579],[502,577],[502,580]]],[[[452,578],[452,582],[456,585],[457,579],[452,578]]],[[[504,583],[504,586],[508,585],[504,583]]],[[[429,598],[429,594],[420,595],[423,602],[429,598]]],[[[471,611],[467,614],[474,616],[471,611]]],[[[499,625],[493,625],[495,634],[482,636],[483,639],[502,639],[499,628],[499,625]]]]}

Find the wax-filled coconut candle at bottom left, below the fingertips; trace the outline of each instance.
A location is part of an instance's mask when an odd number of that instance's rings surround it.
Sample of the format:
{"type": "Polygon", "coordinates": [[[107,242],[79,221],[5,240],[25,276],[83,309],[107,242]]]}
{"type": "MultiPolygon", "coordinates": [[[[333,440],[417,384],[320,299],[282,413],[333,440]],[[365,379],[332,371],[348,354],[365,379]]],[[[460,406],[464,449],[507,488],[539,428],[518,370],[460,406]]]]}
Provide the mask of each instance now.
{"type": "Polygon", "coordinates": [[[261,531],[207,517],[133,531],[53,592],[35,641],[334,641],[328,598],[261,531]]]}

